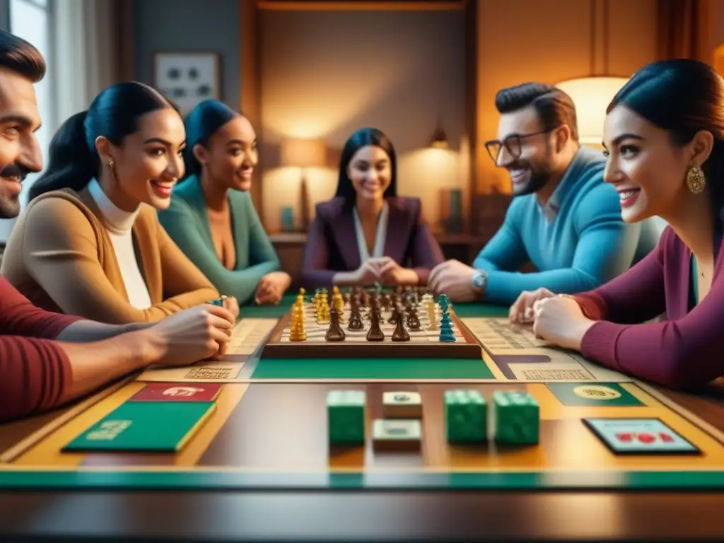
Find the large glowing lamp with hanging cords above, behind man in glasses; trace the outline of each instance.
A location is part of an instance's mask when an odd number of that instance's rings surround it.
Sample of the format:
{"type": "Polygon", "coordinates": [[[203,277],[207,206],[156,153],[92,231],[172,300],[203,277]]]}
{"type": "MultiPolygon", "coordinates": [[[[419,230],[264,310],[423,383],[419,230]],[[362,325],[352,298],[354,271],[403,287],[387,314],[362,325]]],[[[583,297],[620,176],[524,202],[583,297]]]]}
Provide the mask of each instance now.
{"type": "MultiPolygon", "coordinates": [[[[608,1],[603,0],[603,43],[608,41],[608,1]]],[[[557,88],[571,96],[576,105],[578,120],[578,138],[581,143],[601,145],[606,107],[615,94],[626,83],[628,77],[613,77],[608,72],[608,51],[603,51],[603,72],[596,68],[597,10],[599,2],[591,0],[591,51],[589,57],[590,72],[586,77],[565,80],[557,83],[557,88]]]]}

